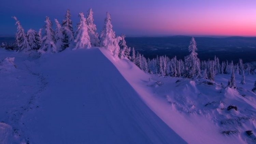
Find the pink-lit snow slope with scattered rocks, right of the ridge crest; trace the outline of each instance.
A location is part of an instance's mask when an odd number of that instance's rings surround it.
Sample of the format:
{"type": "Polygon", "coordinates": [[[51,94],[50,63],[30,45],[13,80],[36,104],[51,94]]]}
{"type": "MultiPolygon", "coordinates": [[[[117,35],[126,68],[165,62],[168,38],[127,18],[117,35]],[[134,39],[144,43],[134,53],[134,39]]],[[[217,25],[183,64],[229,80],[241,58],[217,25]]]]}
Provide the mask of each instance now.
{"type": "MultiPolygon", "coordinates": [[[[129,60],[116,61],[105,49],[101,51],[115,64],[143,101],[188,143],[255,142],[254,136],[249,137],[245,133],[247,130],[255,131],[256,95],[250,91],[254,76],[246,78],[248,83],[243,86],[248,90],[233,90],[221,86],[218,80],[223,81],[230,75],[221,75],[213,85],[203,79],[196,81],[159,77],[145,74],[129,60]],[[231,104],[240,110],[228,111],[227,107],[231,104]]],[[[237,82],[240,79],[237,76],[237,82]]]]}

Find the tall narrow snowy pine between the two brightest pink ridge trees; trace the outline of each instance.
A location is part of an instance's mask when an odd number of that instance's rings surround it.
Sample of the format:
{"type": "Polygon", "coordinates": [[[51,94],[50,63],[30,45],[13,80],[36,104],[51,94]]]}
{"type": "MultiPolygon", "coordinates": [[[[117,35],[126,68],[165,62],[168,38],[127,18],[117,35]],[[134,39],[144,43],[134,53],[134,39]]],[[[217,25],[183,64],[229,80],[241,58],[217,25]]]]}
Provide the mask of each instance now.
{"type": "Polygon", "coordinates": [[[99,34],[96,32],[97,28],[96,25],[93,23],[93,11],[90,8],[88,10],[87,18],[86,18],[86,23],[88,26],[88,35],[90,37],[90,42],[91,46],[99,46],[100,40],[99,40],[99,34]]]}

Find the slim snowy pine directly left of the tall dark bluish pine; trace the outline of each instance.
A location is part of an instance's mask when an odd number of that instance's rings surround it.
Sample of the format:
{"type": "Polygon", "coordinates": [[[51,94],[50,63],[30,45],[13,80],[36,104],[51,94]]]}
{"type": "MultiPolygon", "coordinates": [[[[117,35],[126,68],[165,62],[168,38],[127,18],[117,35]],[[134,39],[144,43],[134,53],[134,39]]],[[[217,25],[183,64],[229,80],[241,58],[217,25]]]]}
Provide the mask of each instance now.
{"type": "Polygon", "coordinates": [[[62,31],[62,27],[61,25],[59,24],[59,21],[57,19],[54,19],[55,21],[55,35],[54,35],[54,38],[55,38],[55,45],[57,47],[57,50],[58,51],[62,51],[63,50],[63,31],[62,31]]]}

